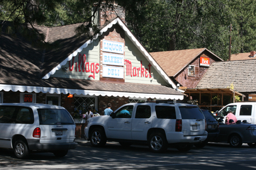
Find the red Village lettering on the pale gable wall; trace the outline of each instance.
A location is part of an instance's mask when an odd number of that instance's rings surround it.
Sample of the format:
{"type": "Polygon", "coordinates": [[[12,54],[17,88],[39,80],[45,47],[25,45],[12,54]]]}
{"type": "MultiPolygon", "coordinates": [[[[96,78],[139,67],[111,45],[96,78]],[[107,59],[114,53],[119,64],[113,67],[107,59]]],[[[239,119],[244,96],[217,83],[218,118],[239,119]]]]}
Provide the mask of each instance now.
{"type": "MultiPolygon", "coordinates": [[[[69,61],[69,70],[70,71],[74,70],[74,61],[75,61],[75,57],[73,57],[72,63],[71,63],[71,61],[69,61]]],[[[78,55],[78,63],[75,62],[75,71],[91,72],[92,75],[89,75],[89,78],[92,77],[93,79],[95,79],[95,73],[96,74],[99,73],[99,63],[86,62],[86,55],[79,54],[78,55]]]]}

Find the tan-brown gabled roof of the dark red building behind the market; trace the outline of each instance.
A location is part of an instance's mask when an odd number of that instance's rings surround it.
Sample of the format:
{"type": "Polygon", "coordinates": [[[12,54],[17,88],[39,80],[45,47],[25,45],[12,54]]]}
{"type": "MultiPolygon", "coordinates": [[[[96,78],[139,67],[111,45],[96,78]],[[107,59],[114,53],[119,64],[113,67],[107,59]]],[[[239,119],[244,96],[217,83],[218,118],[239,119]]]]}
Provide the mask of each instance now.
{"type": "MultiPolygon", "coordinates": [[[[157,61],[157,63],[163,68],[169,77],[176,76],[183,68],[185,68],[190,62],[192,62],[196,57],[202,54],[204,51],[214,53],[207,50],[207,48],[196,48],[189,50],[177,50],[177,51],[167,51],[167,52],[154,52],[150,53],[151,56],[157,61]]],[[[221,58],[216,56],[220,61],[221,58]]]]}

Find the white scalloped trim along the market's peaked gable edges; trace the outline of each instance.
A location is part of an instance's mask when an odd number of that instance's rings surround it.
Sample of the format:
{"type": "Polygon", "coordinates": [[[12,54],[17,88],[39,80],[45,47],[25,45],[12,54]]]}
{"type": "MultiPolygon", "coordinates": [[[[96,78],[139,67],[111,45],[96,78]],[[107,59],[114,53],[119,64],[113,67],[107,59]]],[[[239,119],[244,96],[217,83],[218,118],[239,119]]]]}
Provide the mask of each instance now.
{"type": "MultiPolygon", "coordinates": [[[[146,59],[148,61],[151,61],[151,64],[154,66],[154,68],[157,70],[157,72],[162,76],[162,78],[170,85],[172,85],[172,87],[175,89],[176,88],[176,84],[170,80],[170,78],[167,76],[167,74],[163,71],[163,69],[158,65],[158,63],[153,59],[153,57],[150,55],[150,53],[148,53],[145,48],[142,46],[142,44],[137,40],[137,38],[133,35],[133,33],[125,26],[125,24],[121,21],[120,18],[116,18],[115,20],[113,20],[112,22],[110,22],[107,26],[105,26],[104,28],[101,29],[100,31],[100,35],[102,35],[102,33],[108,31],[109,28],[112,28],[113,25],[115,25],[116,23],[118,23],[118,25],[124,30],[124,32],[126,33],[127,36],[130,37],[130,39],[133,41],[134,45],[136,45],[136,47],[139,49],[139,51],[146,57],[146,59]]],[[[97,34],[94,39],[98,38],[97,34]]],[[[49,79],[49,77],[51,75],[53,75],[56,70],[60,69],[62,65],[65,65],[68,61],[70,61],[72,59],[73,56],[76,56],[77,53],[81,52],[83,48],[86,48],[88,46],[88,44],[92,43],[93,40],[88,40],[86,43],[84,43],[82,46],[80,46],[75,52],[73,52],[71,55],[69,55],[69,57],[62,61],[58,66],[56,66],[55,68],[53,68],[45,77],[43,77],[42,79],[49,79]]]]}

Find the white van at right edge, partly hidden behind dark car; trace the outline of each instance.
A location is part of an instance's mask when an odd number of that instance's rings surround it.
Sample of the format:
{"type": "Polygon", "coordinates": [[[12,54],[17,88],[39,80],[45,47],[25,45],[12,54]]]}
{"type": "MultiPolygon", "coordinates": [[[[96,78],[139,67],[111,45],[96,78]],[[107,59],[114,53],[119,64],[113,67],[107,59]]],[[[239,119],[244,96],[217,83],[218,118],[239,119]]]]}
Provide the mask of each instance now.
{"type": "MultiPolygon", "coordinates": [[[[232,111],[234,115],[236,115],[238,120],[243,122],[246,120],[247,123],[256,124],[256,102],[238,102],[238,103],[230,103],[220,111],[216,111],[218,116],[223,116],[224,121],[227,114],[232,111]]],[[[225,123],[225,122],[223,122],[225,123]]]]}

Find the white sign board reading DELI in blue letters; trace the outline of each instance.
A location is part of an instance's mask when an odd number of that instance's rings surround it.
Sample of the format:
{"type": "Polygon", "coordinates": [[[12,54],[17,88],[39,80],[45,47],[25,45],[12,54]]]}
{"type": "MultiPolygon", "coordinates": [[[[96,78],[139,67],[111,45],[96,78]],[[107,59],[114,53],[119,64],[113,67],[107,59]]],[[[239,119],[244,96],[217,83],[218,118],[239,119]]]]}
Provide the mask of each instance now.
{"type": "Polygon", "coordinates": [[[123,79],[123,67],[103,65],[103,77],[123,79]]]}

